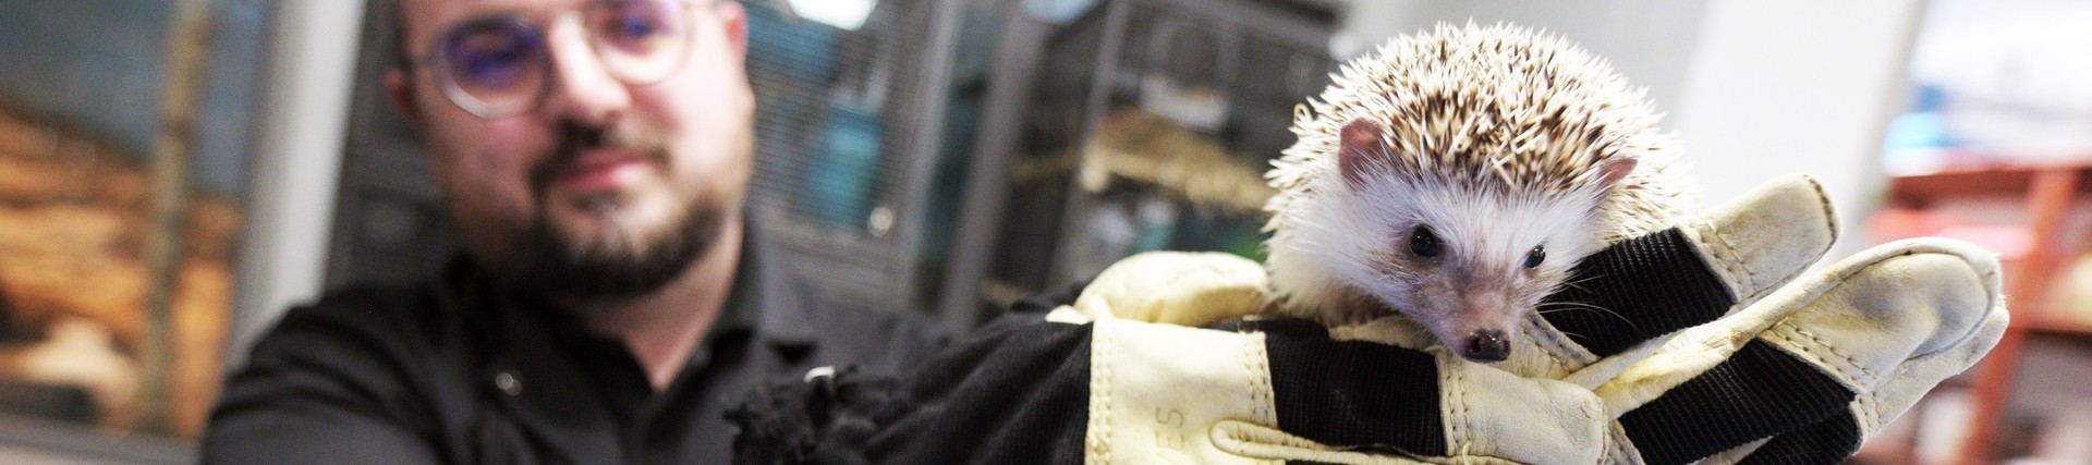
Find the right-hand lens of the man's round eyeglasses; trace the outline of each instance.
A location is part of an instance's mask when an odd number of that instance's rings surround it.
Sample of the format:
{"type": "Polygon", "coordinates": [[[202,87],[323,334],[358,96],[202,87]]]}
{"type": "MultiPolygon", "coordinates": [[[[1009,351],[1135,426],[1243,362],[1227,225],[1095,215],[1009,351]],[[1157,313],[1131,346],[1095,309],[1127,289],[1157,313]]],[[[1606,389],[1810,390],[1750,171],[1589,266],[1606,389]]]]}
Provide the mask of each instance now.
{"type": "Polygon", "coordinates": [[[596,52],[617,78],[632,84],[665,80],[682,67],[690,25],[680,0],[607,2],[588,15],[596,52]]]}

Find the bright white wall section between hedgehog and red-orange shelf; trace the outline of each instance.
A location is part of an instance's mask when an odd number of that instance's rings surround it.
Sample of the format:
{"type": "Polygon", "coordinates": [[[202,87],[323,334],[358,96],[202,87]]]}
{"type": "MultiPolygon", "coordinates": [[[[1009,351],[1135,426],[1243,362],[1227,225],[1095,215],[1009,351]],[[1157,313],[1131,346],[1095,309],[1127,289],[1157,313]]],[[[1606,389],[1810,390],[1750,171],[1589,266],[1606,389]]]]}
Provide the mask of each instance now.
{"type": "Polygon", "coordinates": [[[1713,0],[1674,115],[1707,203],[1805,172],[1839,205],[1833,256],[1866,247],[1881,140],[1908,107],[1918,0],[1713,0]]]}

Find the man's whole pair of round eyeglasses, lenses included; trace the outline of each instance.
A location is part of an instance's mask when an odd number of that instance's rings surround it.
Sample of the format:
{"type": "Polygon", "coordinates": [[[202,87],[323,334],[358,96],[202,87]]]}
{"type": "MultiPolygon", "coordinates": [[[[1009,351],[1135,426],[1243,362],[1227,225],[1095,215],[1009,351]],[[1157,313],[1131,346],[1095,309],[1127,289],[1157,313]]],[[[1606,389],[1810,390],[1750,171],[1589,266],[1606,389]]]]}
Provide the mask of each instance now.
{"type": "MultiPolygon", "coordinates": [[[[646,86],[682,69],[695,36],[686,8],[682,0],[605,0],[579,13],[602,69],[646,86]]],[[[536,109],[556,75],[544,34],[517,15],[464,21],[429,48],[429,73],[444,96],[485,119],[536,109]]]]}

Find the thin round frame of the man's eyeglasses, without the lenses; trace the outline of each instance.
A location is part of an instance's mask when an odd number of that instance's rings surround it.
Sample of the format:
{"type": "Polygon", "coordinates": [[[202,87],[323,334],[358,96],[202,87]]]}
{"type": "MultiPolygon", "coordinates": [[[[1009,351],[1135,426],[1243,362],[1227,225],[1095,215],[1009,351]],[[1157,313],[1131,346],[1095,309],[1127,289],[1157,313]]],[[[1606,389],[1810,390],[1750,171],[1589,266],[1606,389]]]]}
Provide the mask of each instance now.
{"type": "MultiPolygon", "coordinates": [[[[688,63],[690,63],[690,46],[697,44],[697,21],[690,17],[695,8],[697,8],[697,4],[692,4],[690,0],[598,0],[598,2],[590,2],[590,4],[582,6],[579,10],[565,10],[565,13],[556,15],[552,21],[565,21],[567,17],[582,17],[582,25],[584,25],[582,29],[586,31],[584,36],[588,38],[588,50],[594,54],[596,63],[602,65],[602,69],[613,80],[623,82],[628,86],[653,86],[653,84],[665,82],[667,78],[676,78],[678,73],[682,73],[684,67],[688,67],[688,63]],[[682,23],[682,31],[680,31],[682,34],[682,38],[680,38],[682,44],[676,48],[676,54],[674,54],[676,63],[667,65],[667,71],[663,71],[661,75],[651,78],[651,80],[638,80],[638,78],[621,73],[617,67],[613,67],[611,61],[605,59],[602,38],[596,36],[596,31],[592,27],[588,27],[588,17],[594,15],[596,10],[609,8],[609,6],[617,6],[617,4],[634,4],[634,2],[653,2],[653,4],[661,4],[661,6],[669,6],[669,8],[674,8],[674,10],[669,10],[669,15],[678,15],[684,21],[682,23]]],[[[529,111],[538,109],[540,105],[544,105],[544,98],[550,96],[552,88],[556,88],[561,84],[559,82],[559,73],[556,73],[556,69],[559,69],[559,57],[552,54],[552,46],[550,46],[550,42],[548,42],[548,38],[544,34],[544,27],[540,23],[531,23],[531,21],[523,19],[523,15],[515,15],[515,13],[483,15],[483,17],[473,17],[473,19],[458,21],[458,23],[446,27],[444,34],[435,36],[433,42],[429,42],[427,52],[423,54],[423,59],[408,61],[408,63],[423,65],[429,71],[429,75],[435,78],[435,88],[441,90],[444,96],[450,98],[452,105],[458,105],[458,109],[464,109],[464,113],[473,113],[475,117],[481,117],[481,119],[502,119],[502,117],[513,117],[513,115],[529,113],[529,111]],[[515,27],[515,29],[521,29],[521,31],[529,31],[531,34],[529,38],[536,42],[533,46],[538,48],[538,52],[544,52],[544,61],[538,61],[538,67],[540,67],[538,71],[540,71],[540,75],[544,75],[544,78],[540,78],[540,80],[544,80],[542,86],[538,86],[536,94],[525,96],[525,101],[521,101],[521,105],[515,105],[515,109],[502,109],[502,107],[496,107],[496,105],[492,105],[492,103],[487,103],[487,101],[483,101],[479,96],[473,96],[471,92],[464,90],[464,86],[458,84],[456,73],[450,69],[450,52],[446,52],[446,48],[448,48],[446,44],[452,44],[460,34],[467,34],[467,31],[471,31],[475,27],[483,27],[487,23],[502,23],[504,27],[515,27]]]]}

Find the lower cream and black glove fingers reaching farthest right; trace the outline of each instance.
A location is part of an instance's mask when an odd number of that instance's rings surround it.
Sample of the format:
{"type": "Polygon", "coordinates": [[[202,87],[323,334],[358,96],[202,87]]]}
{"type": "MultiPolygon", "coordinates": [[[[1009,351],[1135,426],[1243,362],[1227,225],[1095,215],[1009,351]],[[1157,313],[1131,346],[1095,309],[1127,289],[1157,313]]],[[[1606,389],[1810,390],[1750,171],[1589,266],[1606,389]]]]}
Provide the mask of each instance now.
{"type": "MultiPolygon", "coordinates": [[[[1868,429],[2002,337],[1998,289],[1996,258],[1971,245],[1874,247],[1680,333],[1596,394],[1646,463],[1697,461],[1837,415],[1868,429]]],[[[1839,440],[1791,440],[1826,438],[1839,440]]]]}

